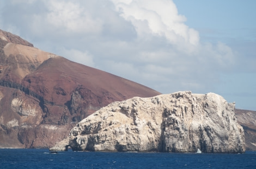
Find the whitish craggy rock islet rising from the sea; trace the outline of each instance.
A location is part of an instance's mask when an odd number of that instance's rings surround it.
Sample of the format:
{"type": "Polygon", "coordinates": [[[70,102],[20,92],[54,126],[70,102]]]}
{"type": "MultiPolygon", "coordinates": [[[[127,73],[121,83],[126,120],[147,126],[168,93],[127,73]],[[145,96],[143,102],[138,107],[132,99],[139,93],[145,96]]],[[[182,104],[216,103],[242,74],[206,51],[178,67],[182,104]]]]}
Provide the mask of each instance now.
{"type": "Polygon", "coordinates": [[[113,102],[83,119],[51,150],[245,152],[235,105],[214,93],[178,92],[113,102]]]}

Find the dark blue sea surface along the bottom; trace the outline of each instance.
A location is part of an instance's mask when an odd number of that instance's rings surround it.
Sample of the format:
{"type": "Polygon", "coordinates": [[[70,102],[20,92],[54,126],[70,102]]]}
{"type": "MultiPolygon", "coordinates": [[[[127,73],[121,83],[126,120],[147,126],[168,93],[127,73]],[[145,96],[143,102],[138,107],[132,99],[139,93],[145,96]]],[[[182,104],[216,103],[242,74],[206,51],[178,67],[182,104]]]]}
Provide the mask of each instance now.
{"type": "Polygon", "coordinates": [[[58,152],[0,149],[0,168],[256,168],[256,152],[243,154],[58,152]]]}

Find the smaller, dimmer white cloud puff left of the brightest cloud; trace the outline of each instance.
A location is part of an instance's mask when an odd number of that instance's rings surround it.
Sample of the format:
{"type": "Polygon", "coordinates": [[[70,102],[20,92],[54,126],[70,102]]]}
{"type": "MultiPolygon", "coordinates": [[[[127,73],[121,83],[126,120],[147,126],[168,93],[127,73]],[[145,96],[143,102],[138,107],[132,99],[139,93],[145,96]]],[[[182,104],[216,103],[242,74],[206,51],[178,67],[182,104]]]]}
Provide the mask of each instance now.
{"type": "Polygon", "coordinates": [[[76,2],[47,1],[48,14],[46,22],[48,26],[65,30],[65,33],[99,33],[102,30],[102,22],[94,18],[89,11],[76,2]]]}

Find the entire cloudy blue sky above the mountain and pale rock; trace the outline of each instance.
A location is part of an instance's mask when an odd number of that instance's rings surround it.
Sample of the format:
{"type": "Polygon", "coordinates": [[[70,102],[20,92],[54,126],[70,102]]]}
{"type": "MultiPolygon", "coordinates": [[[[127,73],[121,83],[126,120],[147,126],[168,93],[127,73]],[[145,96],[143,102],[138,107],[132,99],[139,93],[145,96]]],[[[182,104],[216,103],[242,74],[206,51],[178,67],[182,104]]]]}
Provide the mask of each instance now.
{"type": "Polygon", "coordinates": [[[2,0],[0,29],[163,94],[256,111],[254,0],[2,0]]]}

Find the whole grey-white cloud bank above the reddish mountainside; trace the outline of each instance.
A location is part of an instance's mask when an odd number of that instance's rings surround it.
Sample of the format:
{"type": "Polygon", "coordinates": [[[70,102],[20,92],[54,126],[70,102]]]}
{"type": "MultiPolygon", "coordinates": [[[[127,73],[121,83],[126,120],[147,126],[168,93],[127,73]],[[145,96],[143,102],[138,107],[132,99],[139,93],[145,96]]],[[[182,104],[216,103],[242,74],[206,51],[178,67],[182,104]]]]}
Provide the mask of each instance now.
{"type": "Polygon", "coordinates": [[[13,0],[5,6],[1,29],[162,93],[210,92],[235,64],[224,43],[200,42],[170,0],[13,0]]]}

